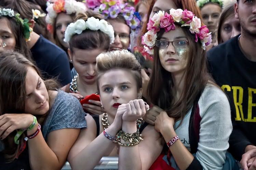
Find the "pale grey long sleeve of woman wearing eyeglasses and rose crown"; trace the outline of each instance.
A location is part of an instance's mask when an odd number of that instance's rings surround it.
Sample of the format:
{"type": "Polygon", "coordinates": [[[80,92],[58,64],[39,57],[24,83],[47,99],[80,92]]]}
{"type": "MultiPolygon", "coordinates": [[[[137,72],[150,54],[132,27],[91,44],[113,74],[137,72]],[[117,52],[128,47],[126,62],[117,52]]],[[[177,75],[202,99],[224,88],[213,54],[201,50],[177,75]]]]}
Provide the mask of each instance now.
{"type": "Polygon", "coordinates": [[[196,158],[203,169],[222,170],[232,132],[227,96],[216,87],[208,87],[199,100],[199,107],[202,120],[196,158]]]}

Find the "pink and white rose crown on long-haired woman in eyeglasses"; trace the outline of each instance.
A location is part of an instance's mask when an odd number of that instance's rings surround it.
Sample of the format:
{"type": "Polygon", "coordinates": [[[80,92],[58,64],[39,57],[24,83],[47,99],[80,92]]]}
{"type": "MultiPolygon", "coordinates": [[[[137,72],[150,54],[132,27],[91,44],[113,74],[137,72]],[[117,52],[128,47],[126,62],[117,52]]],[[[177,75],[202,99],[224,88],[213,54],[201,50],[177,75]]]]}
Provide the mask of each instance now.
{"type": "Polygon", "coordinates": [[[154,14],[147,24],[147,30],[142,36],[142,44],[144,49],[150,55],[153,55],[153,47],[156,45],[157,33],[160,28],[163,28],[165,32],[175,30],[175,24],[181,25],[181,27],[188,27],[192,34],[195,34],[195,41],[200,40],[202,48],[205,50],[205,46],[211,44],[212,34],[206,26],[201,26],[201,20],[193,14],[193,12],[182,9],[171,9],[170,14],[164,11],[159,11],[154,14]]]}

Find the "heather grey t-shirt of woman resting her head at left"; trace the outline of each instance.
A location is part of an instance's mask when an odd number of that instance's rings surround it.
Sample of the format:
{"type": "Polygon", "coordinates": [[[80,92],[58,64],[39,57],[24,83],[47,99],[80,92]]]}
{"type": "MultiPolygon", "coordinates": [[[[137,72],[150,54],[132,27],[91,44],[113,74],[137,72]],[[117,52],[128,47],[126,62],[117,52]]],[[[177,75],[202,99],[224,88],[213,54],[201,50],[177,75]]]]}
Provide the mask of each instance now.
{"type": "Polygon", "coordinates": [[[44,139],[50,132],[64,128],[85,128],[85,113],[79,100],[59,90],[54,104],[42,126],[44,139]]]}

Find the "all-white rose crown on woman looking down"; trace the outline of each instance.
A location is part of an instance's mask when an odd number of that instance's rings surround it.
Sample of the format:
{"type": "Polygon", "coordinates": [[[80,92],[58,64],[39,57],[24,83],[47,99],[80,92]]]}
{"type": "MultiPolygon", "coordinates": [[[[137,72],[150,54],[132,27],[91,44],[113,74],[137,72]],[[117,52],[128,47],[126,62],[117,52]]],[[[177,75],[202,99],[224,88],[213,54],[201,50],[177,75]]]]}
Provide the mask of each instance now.
{"type": "Polygon", "coordinates": [[[65,31],[64,42],[68,43],[70,38],[74,34],[81,34],[83,30],[100,30],[106,33],[110,38],[110,44],[114,42],[114,29],[111,25],[108,24],[104,19],[99,20],[98,18],[90,17],[87,21],[83,19],[78,19],[76,22],[72,22],[68,25],[65,31]]]}

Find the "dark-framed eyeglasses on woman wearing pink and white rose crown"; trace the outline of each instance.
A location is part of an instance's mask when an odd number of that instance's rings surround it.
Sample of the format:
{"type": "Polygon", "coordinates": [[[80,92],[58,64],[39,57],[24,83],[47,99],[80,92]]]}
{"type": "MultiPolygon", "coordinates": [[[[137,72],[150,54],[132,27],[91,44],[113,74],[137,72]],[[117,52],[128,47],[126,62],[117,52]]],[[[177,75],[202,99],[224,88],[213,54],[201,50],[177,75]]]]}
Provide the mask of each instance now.
{"type": "Polygon", "coordinates": [[[176,40],[176,41],[165,41],[165,40],[157,40],[156,46],[165,49],[169,46],[169,44],[172,43],[174,48],[186,48],[188,45],[187,40],[176,40]]]}

